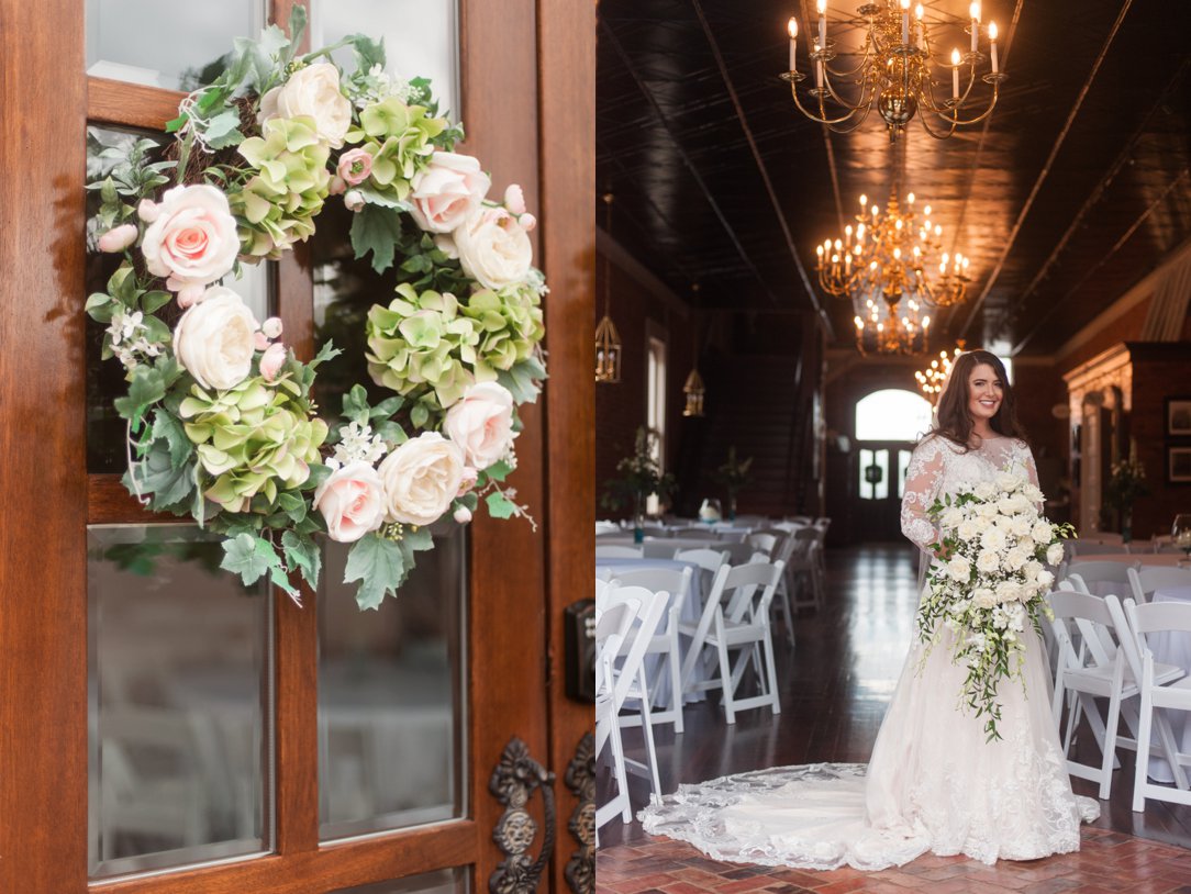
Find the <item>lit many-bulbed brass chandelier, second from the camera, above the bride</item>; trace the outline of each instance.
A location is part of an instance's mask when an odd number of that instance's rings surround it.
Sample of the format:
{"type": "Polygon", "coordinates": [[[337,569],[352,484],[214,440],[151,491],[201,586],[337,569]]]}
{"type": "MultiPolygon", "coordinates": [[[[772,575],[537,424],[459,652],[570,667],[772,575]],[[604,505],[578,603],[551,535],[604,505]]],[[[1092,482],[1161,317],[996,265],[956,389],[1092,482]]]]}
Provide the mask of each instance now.
{"type": "Polygon", "coordinates": [[[929,205],[919,223],[913,193],[903,207],[892,190],[884,212],[861,195],[856,226],[846,226],[843,239],[816,246],[819,286],[852,300],[861,354],[925,351],[930,310],[964,300],[968,260],[940,252],[942,239],[929,205]]]}

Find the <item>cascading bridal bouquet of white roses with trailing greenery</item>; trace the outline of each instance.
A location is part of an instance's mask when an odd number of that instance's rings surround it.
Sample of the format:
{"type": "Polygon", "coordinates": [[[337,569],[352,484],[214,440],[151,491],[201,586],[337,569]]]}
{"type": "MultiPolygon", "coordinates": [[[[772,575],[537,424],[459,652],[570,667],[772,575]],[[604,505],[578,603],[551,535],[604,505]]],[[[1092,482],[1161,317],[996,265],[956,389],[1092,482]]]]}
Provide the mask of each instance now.
{"type": "Polygon", "coordinates": [[[1043,596],[1054,583],[1046,565],[1062,561],[1062,538],[1071,525],[1055,525],[1039,513],[1042,492],[1023,475],[1005,471],[971,490],[948,494],[927,511],[939,526],[944,557],[928,576],[929,592],[918,607],[918,637],[935,645],[943,629],[955,633],[953,661],[967,668],[961,700],[986,717],[989,740],[999,739],[997,686],[1021,679],[1033,624],[1041,633],[1043,596]]]}

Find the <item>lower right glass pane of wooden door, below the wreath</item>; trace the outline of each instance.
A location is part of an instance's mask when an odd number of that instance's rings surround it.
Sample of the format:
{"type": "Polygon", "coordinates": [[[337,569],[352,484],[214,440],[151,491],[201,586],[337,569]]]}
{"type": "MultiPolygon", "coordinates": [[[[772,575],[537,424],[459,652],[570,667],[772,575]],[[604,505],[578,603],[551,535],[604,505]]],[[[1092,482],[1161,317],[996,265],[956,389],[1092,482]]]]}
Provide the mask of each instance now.
{"type": "Polygon", "coordinates": [[[464,813],[466,529],[444,527],[397,599],[361,612],[328,543],[318,593],[320,834],[344,838],[464,813]]]}

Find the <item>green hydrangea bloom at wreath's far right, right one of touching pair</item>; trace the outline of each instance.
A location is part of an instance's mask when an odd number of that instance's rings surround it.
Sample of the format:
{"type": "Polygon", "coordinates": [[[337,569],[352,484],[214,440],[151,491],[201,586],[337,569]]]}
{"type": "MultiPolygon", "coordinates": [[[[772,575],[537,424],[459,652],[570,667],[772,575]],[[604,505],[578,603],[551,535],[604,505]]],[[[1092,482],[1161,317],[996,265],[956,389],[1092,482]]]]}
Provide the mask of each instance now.
{"type": "Polygon", "coordinates": [[[528,286],[480,289],[468,299],[463,315],[475,321],[480,333],[475,348],[479,381],[495,379],[495,370],[529,360],[545,335],[542,299],[528,286]]]}

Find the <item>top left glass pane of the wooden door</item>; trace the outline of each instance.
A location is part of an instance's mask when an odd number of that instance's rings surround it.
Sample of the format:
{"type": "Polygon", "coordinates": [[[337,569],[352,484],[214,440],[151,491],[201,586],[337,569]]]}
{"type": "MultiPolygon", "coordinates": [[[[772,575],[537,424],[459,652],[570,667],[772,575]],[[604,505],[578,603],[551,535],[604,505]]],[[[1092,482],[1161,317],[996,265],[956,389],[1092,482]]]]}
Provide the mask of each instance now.
{"type": "Polygon", "coordinates": [[[87,0],[87,74],[189,92],[219,76],[232,40],[263,26],[263,0],[87,0]]]}

